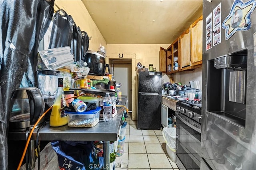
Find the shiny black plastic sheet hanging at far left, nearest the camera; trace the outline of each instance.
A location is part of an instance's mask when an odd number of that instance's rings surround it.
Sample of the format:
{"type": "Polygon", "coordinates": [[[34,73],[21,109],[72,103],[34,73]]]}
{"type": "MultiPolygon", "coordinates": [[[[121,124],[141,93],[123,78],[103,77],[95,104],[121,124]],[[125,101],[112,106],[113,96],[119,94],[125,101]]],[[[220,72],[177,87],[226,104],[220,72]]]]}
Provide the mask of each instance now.
{"type": "Polygon", "coordinates": [[[37,86],[38,44],[52,19],[53,5],[54,0],[0,0],[1,170],[8,170],[12,92],[20,86],[37,86]]]}

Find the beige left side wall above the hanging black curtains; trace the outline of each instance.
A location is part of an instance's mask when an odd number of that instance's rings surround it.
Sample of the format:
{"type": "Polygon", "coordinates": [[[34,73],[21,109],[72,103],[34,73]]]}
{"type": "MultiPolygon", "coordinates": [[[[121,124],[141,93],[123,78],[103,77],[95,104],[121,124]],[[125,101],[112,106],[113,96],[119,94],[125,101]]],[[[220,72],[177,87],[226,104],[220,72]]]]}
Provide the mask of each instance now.
{"type": "MultiPolygon", "coordinates": [[[[92,39],[89,41],[90,50],[98,51],[100,44],[106,47],[105,39],[81,0],[55,0],[54,3],[59,8],[66,11],[68,15],[72,16],[76,26],[79,26],[82,31],[87,32],[89,37],[92,37],[92,39]]],[[[55,5],[54,9],[58,10],[55,5]]]]}

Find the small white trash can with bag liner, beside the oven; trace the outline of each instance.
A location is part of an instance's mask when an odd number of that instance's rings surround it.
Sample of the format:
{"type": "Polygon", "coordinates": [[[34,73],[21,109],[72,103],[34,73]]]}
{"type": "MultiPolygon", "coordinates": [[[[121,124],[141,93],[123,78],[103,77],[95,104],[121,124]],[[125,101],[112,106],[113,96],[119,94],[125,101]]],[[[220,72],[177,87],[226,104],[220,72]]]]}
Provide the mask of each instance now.
{"type": "Polygon", "coordinates": [[[178,139],[178,134],[176,134],[176,128],[163,128],[163,137],[166,142],[166,151],[172,162],[176,162],[176,139],[178,139]]]}

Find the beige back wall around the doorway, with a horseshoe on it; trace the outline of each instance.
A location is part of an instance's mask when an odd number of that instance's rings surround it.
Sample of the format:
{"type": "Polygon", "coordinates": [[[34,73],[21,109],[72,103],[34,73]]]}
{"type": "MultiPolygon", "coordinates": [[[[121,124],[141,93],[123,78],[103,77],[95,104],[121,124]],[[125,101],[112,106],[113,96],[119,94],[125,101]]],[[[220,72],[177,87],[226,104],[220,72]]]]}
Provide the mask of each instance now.
{"type": "Polygon", "coordinates": [[[136,82],[136,65],[140,62],[148,67],[153,64],[156,71],[160,70],[159,51],[160,46],[167,48],[170,44],[107,44],[107,63],[111,58],[118,58],[123,54],[122,59],[132,59],[132,120],[136,120],[137,110],[137,82],[136,82]]]}

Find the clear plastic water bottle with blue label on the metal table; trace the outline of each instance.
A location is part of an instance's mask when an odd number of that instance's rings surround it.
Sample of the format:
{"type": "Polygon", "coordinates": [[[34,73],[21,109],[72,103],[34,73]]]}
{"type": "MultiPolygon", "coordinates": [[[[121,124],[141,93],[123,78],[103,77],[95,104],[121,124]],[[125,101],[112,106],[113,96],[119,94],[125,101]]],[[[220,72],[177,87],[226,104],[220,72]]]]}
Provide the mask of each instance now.
{"type": "Polygon", "coordinates": [[[112,99],[109,93],[103,99],[103,120],[110,121],[112,119],[112,99]]]}

